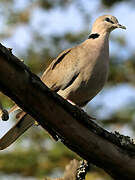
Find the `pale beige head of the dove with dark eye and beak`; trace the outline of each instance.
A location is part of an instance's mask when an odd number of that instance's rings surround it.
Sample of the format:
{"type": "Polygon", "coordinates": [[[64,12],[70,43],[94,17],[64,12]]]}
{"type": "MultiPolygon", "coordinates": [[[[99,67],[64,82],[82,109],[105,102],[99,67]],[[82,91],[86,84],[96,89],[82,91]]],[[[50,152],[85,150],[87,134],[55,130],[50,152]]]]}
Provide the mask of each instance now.
{"type": "Polygon", "coordinates": [[[110,33],[116,28],[126,29],[125,26],[119,24],[116,17],[111,15],[104,15],[96,19],[92,27],[92,32],[98,34],[106,33],[106,32],[110,33]]]}

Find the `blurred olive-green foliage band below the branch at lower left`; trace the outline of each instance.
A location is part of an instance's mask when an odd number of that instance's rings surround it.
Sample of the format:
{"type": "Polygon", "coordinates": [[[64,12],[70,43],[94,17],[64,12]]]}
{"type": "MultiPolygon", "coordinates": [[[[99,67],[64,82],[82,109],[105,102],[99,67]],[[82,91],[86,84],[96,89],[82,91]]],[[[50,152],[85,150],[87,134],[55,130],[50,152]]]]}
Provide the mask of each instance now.
{"type": "Polygon", "coordinates": [[[0,154],[0,170],[5,174],[14,172],[22,176],[45,177],[55,168],[64,170],[69,160],[74,157],[74,153],[60,143],[49,151],[35,150],[32,146],[29,149],[22,147],[15,153],[0,154]]]}

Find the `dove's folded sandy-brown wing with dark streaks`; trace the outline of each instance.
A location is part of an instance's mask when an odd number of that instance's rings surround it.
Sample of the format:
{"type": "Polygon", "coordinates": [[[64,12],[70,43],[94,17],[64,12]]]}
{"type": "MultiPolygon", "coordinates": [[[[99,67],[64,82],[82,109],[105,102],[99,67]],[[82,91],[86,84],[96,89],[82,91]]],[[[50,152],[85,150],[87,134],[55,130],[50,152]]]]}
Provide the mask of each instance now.
{"type": "Polygon", "coordinates": [[[53,91],[65,89],[77,78],[79,71],[76,68],[77,54],[75,48],[63,51],[44,72],[41,80],[53,91]]]}

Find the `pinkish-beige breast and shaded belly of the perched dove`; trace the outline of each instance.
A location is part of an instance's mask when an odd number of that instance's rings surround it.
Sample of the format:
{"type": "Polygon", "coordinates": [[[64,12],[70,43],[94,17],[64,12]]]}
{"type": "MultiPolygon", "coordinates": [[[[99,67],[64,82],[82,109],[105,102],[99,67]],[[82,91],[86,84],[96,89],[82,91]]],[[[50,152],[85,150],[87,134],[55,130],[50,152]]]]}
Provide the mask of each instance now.
{"type": "MultiPolygon", "coordinates": [[[[85,51],[87,52],[87,51],[85,51]]],[[[65,99],[73,101],[79,106],[84,106],[103,88],[109,69],[108,49],[93,50],[83,54],[83,60],[80,60],[80,73],[71,86],[58,93],[65,99]],[[96,53],[98,51],[98,53],[96,53]],[[94,53],[93,58],[92,54],[94,53]],[[81,65],[82,64],[82,65],[81,65]]],[[[81,59],[81,57],[79,57],[81,59]]]]}

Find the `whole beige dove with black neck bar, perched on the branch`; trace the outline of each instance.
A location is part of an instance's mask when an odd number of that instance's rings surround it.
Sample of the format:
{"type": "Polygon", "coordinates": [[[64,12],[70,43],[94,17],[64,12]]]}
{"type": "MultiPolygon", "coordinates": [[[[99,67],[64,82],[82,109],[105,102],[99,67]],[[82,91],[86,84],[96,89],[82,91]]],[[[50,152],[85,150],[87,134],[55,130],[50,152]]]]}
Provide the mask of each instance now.
{"type": "MultiPolygon", "coordinates": [[[[82,44],[63,51],[47,68],[42,81],[63,98],[78,106],[86,105],[103,88],[109,69],[109,34],[116,28],[125,29],[111,15],[99,17],[93,24],[91,34],[82,44]]],[[[10,112],[16,110],[15,105],[10,112]]],[[[0,149],[8,147],[32,124],[24,112],[17,122],[0,139],[0,149]],[[23,117],[23,118],[22,118],[23,117]],[[18,126],[19,124],[19,126],[18,126]]]]}

